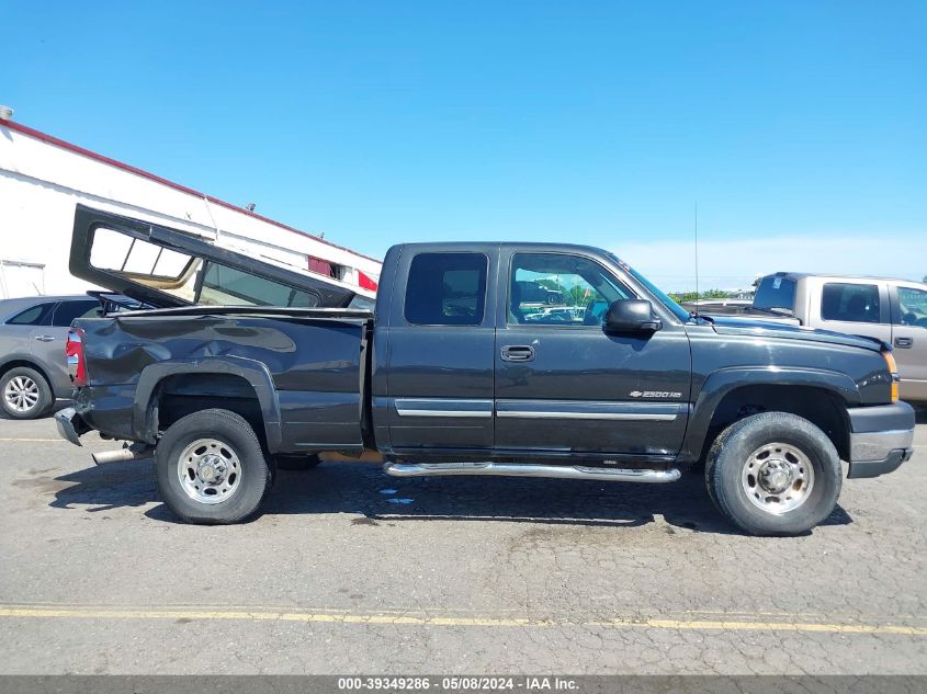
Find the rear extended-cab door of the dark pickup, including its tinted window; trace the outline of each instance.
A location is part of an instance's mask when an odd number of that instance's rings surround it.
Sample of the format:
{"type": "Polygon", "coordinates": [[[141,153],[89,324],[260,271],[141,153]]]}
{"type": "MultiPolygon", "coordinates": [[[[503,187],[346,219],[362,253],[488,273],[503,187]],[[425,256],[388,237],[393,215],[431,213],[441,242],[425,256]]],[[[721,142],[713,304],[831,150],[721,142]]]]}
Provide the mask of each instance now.
{"type": "Polygon", "coordinates": [[[406,454],[493,448],[498,247],[409,244],[384,261],[374,333],[376,441],[406,454]],[[383,315],[383,314],[386,315],[383,315]],[[385,368],[383,368],[385,366],[385,368]]]}

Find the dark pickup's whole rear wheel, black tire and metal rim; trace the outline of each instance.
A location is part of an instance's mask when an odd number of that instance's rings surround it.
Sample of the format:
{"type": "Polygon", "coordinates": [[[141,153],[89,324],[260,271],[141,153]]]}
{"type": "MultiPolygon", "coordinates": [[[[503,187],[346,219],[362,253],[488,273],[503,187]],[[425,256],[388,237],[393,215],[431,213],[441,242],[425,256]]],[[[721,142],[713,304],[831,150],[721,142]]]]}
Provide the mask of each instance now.
{"type": "Polygon", "coordinates": [[[271,487],[272,470],[251,425],[228,410],[179,419],[155,450],[161,499],[188,523],[240,523],[271,487]],[[227,494],[227,496],[226,496],[227,494]]]}

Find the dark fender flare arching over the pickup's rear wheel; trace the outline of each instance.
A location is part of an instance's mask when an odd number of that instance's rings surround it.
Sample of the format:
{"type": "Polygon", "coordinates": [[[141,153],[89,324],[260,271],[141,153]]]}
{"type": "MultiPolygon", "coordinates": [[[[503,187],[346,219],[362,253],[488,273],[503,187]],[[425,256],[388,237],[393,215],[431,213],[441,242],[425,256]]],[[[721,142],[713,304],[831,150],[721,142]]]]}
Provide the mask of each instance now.
{"type": "Polygon", "coordinates": [[[132,430],[138,441],[150,444],[157,442],[158,432],[154,431],[151,417],[154,395],[165,378],[180,374],[230,374],[247,380],[258,396],[268,450],[270,453],[275,453],[280,448],[283,439],[280,399],[270,371],[261,362],[234,355],[205,357],[195,361],[158,362],[143,368],[132,407],[132,430]]]}

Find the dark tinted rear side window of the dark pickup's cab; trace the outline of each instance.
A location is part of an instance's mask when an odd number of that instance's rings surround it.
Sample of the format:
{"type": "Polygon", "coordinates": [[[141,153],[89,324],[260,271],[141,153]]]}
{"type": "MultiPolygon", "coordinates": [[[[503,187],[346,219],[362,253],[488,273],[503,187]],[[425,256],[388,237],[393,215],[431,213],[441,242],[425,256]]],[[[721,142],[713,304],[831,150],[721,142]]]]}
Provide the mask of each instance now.
{"type": "Polygon", "coordinates": [[[483,253],[419,253],[409,268],[406,320],[419,326],[478,326],[486,310],[483,253]]]}

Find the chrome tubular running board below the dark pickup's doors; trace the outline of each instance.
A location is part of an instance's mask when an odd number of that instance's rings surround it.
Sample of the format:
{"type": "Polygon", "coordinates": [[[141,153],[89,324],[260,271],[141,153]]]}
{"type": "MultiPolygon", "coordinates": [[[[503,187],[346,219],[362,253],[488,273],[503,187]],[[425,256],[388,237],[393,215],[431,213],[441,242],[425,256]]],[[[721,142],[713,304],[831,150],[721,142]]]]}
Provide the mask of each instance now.
{"type": "Polygon", "coordinates": [[[599,479],[609,482],[675,482],[682,475],[676,469],[637,470],[580,465],[518,465],[511,463],[387,463],[383,471],[393,477],[436,475],[499,475],[504,477],[553,477],[599,479]]]}

